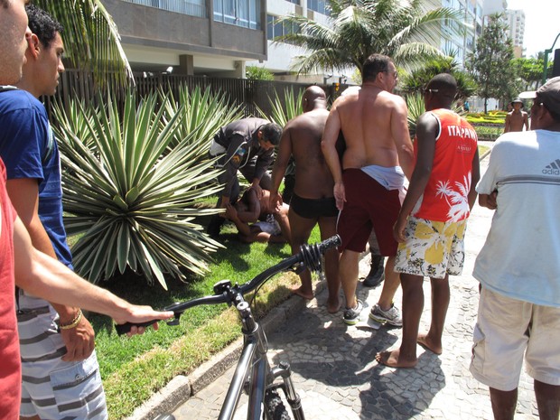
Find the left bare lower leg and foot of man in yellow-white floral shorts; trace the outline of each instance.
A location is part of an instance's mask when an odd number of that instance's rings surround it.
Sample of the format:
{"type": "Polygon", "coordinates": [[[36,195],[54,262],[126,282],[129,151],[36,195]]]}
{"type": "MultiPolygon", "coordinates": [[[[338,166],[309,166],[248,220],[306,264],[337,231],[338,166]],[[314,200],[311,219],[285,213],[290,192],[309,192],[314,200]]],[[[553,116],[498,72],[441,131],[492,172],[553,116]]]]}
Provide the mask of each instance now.
{"type": "Polygon", "coordinates": [[[403,340],[399,349],[378,353],[376,359],[393,368],[414,368],[418,362],[416,337],[424,309],[423,277],[404,273],[400,277],[403,285],[403,340]]]}

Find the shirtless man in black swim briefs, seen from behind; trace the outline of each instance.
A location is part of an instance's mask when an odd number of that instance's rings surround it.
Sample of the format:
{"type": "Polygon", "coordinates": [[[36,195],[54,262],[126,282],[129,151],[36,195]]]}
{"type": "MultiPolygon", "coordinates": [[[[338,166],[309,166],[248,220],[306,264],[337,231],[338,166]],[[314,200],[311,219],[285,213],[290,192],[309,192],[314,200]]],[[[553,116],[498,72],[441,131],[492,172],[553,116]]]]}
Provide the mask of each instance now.
{"type": "MultiPolygon", "coordinates": [[[[270,199],[282,202],[278,188],[290,156],[295,161],[295,186],[288,219],[292,229],[292,253],[299,252],[300,246],[307,243],[312,229],[319,223],[321,238],[336,234],[336,218],[339,210],[332,196],[334,181],[331,171],[321,152],[322,130],[329,117],[327,99],[318,86],[305,89],[303,93],[303,114],[286,124],[280,139],[275,166],[272,171],[272,190],[270,199]]],[[[325,275],[329,288],[327,311],[336,313],[340,308],[338,278],[339,254],[336,249],[325,255],[325,275]]],[[[294,289],[304,299],[313,299],[311,273],[305,269],[300,273],[302,285],[294,289]]]]}

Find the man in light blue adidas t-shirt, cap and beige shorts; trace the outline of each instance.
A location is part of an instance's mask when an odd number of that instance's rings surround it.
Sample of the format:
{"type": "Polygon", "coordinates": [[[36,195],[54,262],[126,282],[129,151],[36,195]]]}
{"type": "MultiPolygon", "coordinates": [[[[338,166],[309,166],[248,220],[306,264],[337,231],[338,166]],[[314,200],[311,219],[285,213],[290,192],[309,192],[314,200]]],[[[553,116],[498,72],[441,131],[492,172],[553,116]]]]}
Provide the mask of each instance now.
{"type": "Polygon", "coordinates": [[[477,185],[496,210],[474,266],[481,282],[471,372],[490,387],[494,417],[513,419],[523,358],[539,417],[560,412],[560,77],[531,107],[531,130],[499,137],[477,185]]]}

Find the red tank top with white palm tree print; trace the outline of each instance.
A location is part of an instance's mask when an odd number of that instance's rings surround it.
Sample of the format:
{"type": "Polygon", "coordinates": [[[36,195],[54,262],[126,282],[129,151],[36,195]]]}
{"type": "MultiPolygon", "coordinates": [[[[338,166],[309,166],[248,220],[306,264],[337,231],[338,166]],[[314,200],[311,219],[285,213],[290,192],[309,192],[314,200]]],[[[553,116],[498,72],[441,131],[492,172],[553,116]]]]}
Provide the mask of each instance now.
{"type": "MultiPolygon", "coordinates": [[[[440,134],[435,139],[432,174],[412,215],[418,219],[459,221],[469,217],[472,159],[476,153],[474,128],[449,109],[431,111],[440,134]]],[[[415,142],[415,157],[418,154],[415,142]]]]}

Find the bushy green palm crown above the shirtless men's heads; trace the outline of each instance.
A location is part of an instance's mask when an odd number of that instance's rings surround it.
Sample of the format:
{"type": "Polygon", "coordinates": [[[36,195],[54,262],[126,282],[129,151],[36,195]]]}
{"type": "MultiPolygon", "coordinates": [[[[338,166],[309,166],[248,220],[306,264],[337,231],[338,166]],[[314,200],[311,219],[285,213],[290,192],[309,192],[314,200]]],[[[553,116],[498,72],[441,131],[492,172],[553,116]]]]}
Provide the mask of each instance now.
{"type": "Polygon", "coordinates": [[[434,8],[430,0],[330,0],[330,24],[290,14],[280,22],[292,23],[300,31],[275,38],[305,48],[294,70],[345,70],[356,67],[372,53],[386,54],[397,66],[412,69],[426,58],[442,56],[438,47],[442,23],[453,33],[462,33],[461,14],[448,8],[434,8]],[[453,29],[454,28],[454,29],[453,29]]]}

